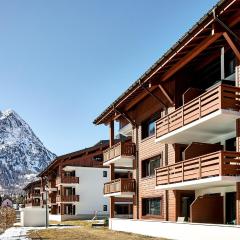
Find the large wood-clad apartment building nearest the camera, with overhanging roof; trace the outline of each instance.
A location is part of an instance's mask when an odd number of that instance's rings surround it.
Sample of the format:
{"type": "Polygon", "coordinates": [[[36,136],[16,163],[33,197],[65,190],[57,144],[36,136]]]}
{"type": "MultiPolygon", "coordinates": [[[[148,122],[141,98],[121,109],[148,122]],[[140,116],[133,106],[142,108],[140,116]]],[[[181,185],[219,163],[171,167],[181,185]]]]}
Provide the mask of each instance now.
{"type": "Polygon", "coordinates": [[[220,1],[94,120],[110,128],[113,220],[131,197],[135,220],[240,224],[239,16],[240,1],[220,1]]]}

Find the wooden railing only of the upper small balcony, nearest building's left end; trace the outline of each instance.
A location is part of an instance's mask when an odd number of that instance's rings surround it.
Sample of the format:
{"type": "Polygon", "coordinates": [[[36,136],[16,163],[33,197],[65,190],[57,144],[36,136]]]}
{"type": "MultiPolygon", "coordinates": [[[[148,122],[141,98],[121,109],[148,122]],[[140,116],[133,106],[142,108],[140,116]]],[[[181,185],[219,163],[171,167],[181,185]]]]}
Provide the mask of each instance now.
{"type": "Polygon", "coordinates": [[[135,156],[135,144],[119,142],[103,152],[103,161],[107,162],[119,156],[135,156]]]}

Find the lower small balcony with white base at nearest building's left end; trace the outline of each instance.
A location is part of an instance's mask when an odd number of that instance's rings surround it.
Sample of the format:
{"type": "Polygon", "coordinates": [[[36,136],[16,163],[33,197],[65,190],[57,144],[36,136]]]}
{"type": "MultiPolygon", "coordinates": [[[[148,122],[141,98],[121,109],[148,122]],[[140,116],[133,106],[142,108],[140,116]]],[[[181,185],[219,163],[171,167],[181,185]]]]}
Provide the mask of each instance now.
{"type": "Polygon", "coordinates": [[[119,178],[104,184],[105,196],[132,197],[135,194],[135,179],[119,178]]]}

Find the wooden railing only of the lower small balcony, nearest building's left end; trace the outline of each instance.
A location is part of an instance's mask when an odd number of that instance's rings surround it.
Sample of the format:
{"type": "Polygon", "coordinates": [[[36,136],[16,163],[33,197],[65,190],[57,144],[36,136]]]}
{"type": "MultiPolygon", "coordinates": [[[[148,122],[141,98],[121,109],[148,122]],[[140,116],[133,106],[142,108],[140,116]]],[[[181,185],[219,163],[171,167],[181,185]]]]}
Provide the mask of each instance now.
{"type": "Polygon", "coordinates": [[[119,178],[104,184],[104,194],[135,192],[135,179],[119,178]]]}

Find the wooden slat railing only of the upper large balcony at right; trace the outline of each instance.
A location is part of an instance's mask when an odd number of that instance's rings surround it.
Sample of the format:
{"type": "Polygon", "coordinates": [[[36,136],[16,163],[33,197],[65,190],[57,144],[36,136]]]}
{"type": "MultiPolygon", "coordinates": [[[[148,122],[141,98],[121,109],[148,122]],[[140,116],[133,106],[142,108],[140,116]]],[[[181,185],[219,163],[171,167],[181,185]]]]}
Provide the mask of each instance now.
{"type": "Polygon", "coordinates": [[[156,121],[156,138],[181,128],[219,109],[240,109],[240,88],[218,85],[156,121]]]}

